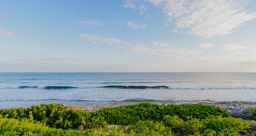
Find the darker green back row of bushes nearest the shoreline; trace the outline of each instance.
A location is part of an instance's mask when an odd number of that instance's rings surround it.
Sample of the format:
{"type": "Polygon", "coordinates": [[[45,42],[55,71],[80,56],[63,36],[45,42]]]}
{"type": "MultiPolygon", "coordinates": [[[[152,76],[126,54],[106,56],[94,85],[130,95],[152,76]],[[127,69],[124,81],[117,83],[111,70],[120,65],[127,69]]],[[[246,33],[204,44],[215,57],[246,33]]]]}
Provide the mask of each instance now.
{"type": "Polygon", "coordinates": [[[62,104],[41,104],[30,108],[1,109],[3,118],[27,118],[62,129],[89,129],[107,127],[107,124],[128,125],[139,121],[161,121],[165,115],[178,116],[183,120],[188,117],[205,119],[209,115],[229,117],[227,111],[219,107],[201,104],[158,105],[141,103],[137,105],[104,108],[96,112],[84,112],[68,109],[62,104]]]}

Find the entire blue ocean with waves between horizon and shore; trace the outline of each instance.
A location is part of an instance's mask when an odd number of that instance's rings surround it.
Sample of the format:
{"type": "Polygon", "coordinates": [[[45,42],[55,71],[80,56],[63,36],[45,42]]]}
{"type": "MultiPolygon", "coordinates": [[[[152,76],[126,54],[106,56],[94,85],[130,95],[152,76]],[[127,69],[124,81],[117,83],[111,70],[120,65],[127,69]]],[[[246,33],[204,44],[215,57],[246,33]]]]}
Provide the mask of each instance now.
{"type": "Polygon", "coordinates": [[[256,73],[0,73],[0,108],[256,102],[256,73]]]}

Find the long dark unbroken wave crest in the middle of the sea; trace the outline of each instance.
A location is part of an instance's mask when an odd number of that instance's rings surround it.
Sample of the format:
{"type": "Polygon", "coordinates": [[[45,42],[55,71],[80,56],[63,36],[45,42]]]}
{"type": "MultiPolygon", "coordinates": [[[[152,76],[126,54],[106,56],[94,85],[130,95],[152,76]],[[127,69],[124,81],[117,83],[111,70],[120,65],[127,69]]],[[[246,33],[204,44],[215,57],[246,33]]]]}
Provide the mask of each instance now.
{"type": "Polygon", "coordinates": [[[101,86],[102,88],[119,88],[119,89],[159,89],[159,88],[168,88],[168,86],[125,86],[125,85],[109,85],[109,86],[101,86]]]}

